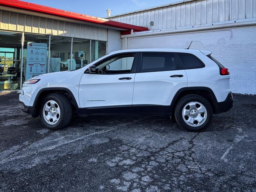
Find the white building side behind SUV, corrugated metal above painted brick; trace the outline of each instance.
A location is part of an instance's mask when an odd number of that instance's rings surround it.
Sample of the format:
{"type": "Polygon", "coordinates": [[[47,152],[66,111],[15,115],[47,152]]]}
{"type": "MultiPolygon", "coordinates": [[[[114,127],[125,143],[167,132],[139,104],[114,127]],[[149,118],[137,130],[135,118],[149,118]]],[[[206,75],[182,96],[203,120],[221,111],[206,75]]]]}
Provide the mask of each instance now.
{"type": "MultiPolygon", "coordinates": [[[[210,50],[230,70],[235,93],[256,94],[256,0],[185,0],[108,19],[149,31],[121,35],[122,49],[210,50]]],[[[200,75],[200,74],[198,74],[200,75]]]]}

